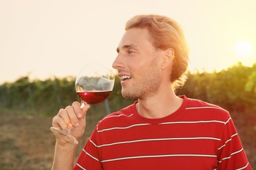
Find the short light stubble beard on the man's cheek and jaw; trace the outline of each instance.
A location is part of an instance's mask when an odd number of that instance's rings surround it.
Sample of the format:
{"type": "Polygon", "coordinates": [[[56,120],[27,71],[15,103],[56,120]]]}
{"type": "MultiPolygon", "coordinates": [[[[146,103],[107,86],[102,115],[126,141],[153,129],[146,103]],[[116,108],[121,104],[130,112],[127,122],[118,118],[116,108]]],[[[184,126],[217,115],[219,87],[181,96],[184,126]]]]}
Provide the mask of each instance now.
{"type": "Polygon", "coordinates": [[[160,87],[160,72],[156,65],[156,60],[152,59],[150,62],[150,71],[144,71],[140,75],[140,80],[133,82],[132,88],[123,88],[121,93],[127,99],[146,99],[152,97],[158,92],[160,87]]]}

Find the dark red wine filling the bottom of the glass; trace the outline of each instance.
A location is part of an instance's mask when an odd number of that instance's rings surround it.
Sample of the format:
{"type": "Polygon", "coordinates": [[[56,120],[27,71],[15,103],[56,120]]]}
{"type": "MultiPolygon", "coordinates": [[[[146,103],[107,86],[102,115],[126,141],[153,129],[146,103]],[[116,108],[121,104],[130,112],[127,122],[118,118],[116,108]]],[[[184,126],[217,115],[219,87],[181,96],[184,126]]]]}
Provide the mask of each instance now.
{"type": "Polygon", "coordinates": [[[77,92],[78,97],[90,105],[101,103],[110,96],[111,91],[104,92],[77,92]]]}

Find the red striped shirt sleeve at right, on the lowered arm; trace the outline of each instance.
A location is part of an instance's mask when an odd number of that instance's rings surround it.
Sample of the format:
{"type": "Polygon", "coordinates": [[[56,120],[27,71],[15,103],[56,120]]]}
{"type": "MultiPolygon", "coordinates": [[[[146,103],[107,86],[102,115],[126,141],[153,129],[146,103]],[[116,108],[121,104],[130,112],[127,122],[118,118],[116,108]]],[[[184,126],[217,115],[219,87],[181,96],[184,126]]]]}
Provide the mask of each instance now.
{"type": "Polygon", "coordinates": [[[219,169],[252,169],[236,131],[232,118],[228,118],[217,150],[219,169]]]}

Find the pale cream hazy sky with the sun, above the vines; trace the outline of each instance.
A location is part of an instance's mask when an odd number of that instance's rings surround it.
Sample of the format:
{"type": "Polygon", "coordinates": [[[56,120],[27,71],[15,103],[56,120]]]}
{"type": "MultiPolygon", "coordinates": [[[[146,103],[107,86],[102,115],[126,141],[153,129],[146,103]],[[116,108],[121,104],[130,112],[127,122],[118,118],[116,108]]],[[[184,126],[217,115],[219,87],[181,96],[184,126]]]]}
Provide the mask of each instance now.
{"type": "Polygon", "coordinates": [[[0,84],[75,76],[83,65],[108,68],[124,25],[161,14],[182,25],[190,71],[256,63],[255,0],[0,0],[0,84]]]}

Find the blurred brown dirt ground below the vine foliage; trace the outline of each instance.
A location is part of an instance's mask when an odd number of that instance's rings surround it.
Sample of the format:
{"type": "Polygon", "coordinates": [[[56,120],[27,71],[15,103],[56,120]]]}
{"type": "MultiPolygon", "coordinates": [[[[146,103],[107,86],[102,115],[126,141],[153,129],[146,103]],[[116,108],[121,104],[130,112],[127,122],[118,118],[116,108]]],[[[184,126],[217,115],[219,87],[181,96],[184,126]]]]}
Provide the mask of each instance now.
{"type": "MultiPolygon", "coordinates": [[[[0,115],[0,169],[51,169],[55,144],[55,137],[50,131],[53,116],[6,114],[1,111],[0,115]]],[[[76,157],[98,120],[90,116],[87,118],[87,129],[79,142],[76,157]]],[[[244,133],[243,130],[240,132],[241,135],[244,133]]],[[[255,167],[255,143],[250,141],[244,148],[255,167]]]]}

